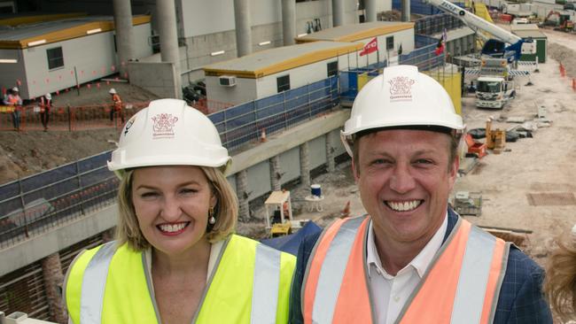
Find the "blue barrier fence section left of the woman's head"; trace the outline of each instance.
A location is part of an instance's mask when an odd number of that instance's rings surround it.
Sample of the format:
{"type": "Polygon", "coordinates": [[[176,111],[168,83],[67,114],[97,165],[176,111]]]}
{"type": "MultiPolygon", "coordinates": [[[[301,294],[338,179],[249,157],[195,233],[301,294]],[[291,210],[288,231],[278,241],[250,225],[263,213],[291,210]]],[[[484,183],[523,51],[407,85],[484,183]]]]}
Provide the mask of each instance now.
{"type": "Polygon", "coordinates": [[[0,187],[0,249],[113,203],[111,151],[0,187]]]}

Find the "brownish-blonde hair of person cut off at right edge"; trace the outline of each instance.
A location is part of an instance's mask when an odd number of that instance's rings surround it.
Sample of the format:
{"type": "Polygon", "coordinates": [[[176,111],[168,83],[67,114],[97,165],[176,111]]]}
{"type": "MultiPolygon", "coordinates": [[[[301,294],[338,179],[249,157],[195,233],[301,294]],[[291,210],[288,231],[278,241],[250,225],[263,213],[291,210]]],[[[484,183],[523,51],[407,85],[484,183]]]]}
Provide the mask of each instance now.
{"type": "Polygon", "coordinates": [[[550,308],[562,320],[574,320],[576,318],[576,235],[564,235],[557,239],[557,244],[557,248],[548,260],[543,289],[550,308]]]}

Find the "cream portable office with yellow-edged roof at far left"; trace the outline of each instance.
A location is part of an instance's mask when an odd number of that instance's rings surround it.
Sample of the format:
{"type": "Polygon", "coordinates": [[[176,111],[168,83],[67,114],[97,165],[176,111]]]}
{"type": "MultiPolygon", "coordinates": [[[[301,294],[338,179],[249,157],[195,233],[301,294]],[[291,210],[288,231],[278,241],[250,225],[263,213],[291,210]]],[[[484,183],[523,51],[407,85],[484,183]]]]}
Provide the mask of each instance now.
{"type": "MultiPolygon", "coordinates": [[[[132,18],[134,58],[152,55],[150,20],[147,15],[132,18]]],[[[112,16],[58,19],[0,30],[0,87],[18,86],[24,99],[74,87],[76,77],[82,84],[117,73],[119,64],[112,16]]]]}

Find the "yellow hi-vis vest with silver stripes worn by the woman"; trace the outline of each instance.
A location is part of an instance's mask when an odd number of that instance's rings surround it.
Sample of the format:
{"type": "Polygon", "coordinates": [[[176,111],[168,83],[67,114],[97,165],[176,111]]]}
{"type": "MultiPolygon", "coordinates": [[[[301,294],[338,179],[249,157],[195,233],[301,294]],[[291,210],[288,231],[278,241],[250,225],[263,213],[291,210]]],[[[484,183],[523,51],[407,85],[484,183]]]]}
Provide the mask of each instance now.
{"type": "MultiPolygon", "coordinates": [[[[287,323],[296,259],[230,235],[192,323],[287,323]]],[[[144,252],[114,242],[84,251],[66,276],[65,300],[75,324],[160,323],[144,252]]]]}

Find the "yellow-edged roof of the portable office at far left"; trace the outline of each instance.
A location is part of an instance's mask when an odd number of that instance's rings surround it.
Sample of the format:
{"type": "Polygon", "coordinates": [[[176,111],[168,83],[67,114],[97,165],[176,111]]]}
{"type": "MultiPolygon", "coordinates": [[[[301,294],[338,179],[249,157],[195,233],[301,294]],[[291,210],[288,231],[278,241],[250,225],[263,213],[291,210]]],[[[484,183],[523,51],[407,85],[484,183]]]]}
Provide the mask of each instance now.
{"type": "MultiPolygon", "coordinates": [[[[134,25],[150,22],[150,16],[134,16],[134,25]]],[[[0,30],[0,49],[24,49],[28,42],[45,40],[45,43],[62,42],[68,39],[87,35],[90,29],[101,28],[101,32],[113,30],[112,16],[87,16],[54,21],[43,21],[35,24],[0,30]]]]}

